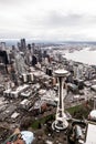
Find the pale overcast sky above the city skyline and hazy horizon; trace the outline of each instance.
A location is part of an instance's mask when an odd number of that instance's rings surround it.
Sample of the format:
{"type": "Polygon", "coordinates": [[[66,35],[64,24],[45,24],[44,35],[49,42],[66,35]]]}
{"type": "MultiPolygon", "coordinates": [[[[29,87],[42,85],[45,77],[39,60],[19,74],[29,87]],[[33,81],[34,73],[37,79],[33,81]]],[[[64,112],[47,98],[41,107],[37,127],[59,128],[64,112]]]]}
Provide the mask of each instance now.
{"type": "Polygon", "coordinates": [[[0,38],[96,41],[96,0],[0,0],[0,38]]]}

